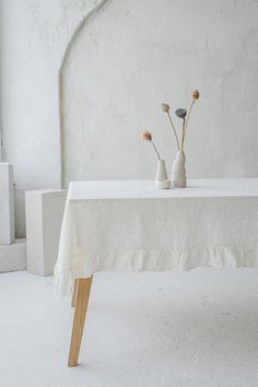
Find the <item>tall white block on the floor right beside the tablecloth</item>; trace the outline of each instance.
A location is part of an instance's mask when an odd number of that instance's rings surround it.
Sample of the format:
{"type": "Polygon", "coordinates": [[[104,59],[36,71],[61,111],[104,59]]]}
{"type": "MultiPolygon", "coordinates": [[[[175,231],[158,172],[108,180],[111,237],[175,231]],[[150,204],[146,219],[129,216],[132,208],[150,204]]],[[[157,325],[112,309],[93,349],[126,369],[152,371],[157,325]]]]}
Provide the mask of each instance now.
{"type": "Polygon", "coordinates": [[[27,271],[39,275],[54,272],[58,255],[67,192],[43,189],[25,194],[27,271]]]}

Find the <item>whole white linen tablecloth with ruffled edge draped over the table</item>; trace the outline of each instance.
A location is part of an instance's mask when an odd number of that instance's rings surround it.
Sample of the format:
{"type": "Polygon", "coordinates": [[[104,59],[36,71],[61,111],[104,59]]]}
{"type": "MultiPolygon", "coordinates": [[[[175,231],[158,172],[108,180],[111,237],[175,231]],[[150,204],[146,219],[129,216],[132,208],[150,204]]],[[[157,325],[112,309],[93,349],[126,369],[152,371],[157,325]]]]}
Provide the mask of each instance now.
{"type": "Polygon", "coordinates": [[[101,270],[258,267],[258,179],[70,184],[55,268],[56,294],[101,270]]]}

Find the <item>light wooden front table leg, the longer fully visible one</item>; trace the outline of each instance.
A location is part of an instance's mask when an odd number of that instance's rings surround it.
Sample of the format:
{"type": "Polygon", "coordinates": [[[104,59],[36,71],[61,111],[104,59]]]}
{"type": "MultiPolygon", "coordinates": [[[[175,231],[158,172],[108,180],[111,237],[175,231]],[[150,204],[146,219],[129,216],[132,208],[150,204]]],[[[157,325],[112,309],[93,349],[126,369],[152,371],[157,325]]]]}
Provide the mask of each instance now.
{"type": "Polygon", "coordinates": [[[87,303],[92,286],[91,278],[80,278],[77,284],[75,308],[73,316],[72,336],[70,343],[70,353],[68,360],[68,366],[74,367],[78,365],[78,357],[82,341],[82,333],[86,317],[87,303]]]}

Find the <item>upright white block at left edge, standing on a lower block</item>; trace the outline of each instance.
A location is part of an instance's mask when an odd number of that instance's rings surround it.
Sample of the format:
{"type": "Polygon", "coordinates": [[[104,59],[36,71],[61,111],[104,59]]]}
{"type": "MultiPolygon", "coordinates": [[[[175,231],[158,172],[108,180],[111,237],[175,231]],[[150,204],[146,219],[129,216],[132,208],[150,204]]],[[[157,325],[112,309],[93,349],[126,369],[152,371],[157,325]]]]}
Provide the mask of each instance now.
{"type": "Polygon", "coordinates": [[[14,188],[13,169],[9,163],[0,163],[0,245],[14,242],[14,188]]]}

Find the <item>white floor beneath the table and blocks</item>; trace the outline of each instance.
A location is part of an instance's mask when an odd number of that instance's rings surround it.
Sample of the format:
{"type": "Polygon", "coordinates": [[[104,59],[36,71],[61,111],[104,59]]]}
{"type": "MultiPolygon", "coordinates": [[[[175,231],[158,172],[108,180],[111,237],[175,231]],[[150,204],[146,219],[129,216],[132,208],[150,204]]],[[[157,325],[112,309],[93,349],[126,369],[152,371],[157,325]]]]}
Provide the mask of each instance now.
{"type": "Polygon", "coordinates": [[[0,386],[258,386],[258,270],[97,274],[74,368],[71,322],[52,278],[0,274],[0,386]]]}

